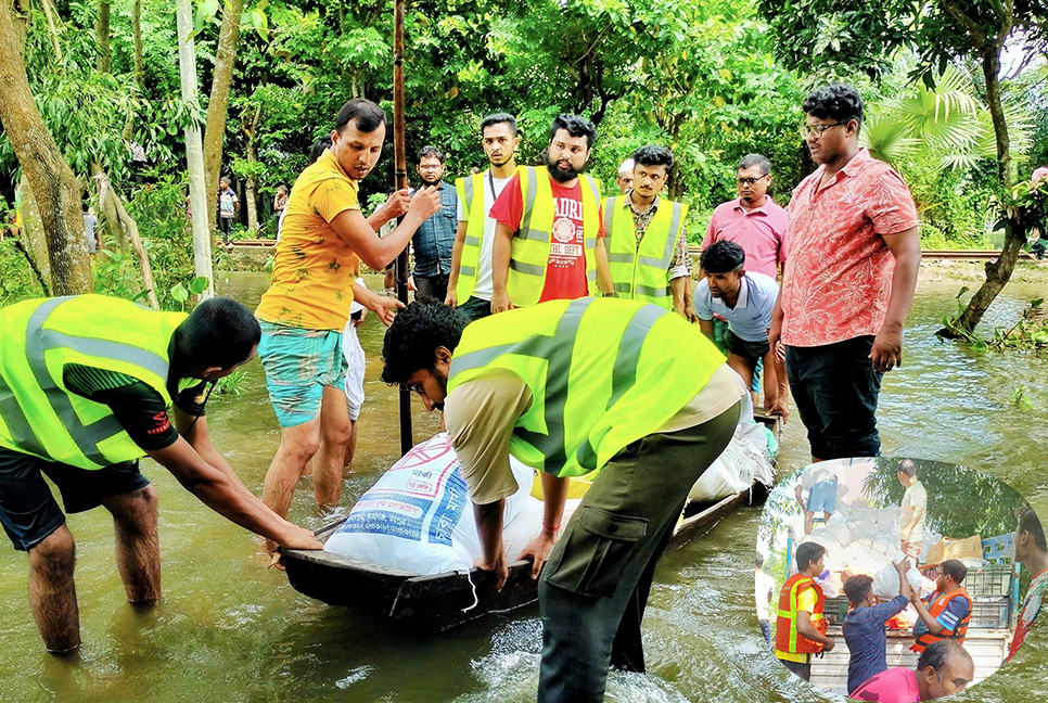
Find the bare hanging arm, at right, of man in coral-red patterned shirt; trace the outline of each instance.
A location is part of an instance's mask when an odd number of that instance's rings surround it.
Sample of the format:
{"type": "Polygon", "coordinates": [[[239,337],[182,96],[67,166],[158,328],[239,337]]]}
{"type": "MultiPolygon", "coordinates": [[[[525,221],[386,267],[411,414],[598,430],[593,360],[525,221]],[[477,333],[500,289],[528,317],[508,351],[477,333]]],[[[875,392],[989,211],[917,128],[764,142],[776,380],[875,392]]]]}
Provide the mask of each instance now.
{"type": "Polygon", "coordinates": [[[895,257],[895,272],[892,274],[892,295],[887,302],[884,324],[877,333],[870,352],[873,369],[881,373],[903,366],[903,325],[913,303],[917,271],[921,266],[918,228],[884,234],[883,239],[895,257]]]}

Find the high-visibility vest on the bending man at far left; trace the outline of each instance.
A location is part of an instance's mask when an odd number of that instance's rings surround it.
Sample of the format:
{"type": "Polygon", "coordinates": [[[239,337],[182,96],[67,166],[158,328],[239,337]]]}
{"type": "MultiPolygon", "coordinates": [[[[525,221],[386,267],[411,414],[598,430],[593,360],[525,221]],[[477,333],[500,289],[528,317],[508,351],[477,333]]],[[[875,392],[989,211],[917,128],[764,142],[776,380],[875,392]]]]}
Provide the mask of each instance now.
{"type": "Polygon", "coordinates": [[[171,335],[183,312],[102,295],[25,301],[0,310],[0,446],[80,469],[144,457],[110,407],[69,391],[68,363],[126,373],[171,402],[171,335]]]}

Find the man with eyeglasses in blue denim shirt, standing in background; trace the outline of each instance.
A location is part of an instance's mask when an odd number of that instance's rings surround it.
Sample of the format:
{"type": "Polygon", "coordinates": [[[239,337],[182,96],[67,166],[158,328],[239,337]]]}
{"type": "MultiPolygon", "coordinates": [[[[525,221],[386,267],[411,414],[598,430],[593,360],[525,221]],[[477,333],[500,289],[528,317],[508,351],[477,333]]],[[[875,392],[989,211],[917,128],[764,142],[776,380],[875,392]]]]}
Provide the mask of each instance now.
{"type": "Polygon", "coordinates": [[[448,274],[451,272],[451,248],[458,229],[459,199],[453,188],[444,183],[444,154],[436,146],[425,145],[419,150],[416,165],[423,187],[432,187],[440,194],[440,209],[419,225],[411,239],[414,268],[411,283],[420,301],[433,298],[444,302],[448,294],[448,274]]]}

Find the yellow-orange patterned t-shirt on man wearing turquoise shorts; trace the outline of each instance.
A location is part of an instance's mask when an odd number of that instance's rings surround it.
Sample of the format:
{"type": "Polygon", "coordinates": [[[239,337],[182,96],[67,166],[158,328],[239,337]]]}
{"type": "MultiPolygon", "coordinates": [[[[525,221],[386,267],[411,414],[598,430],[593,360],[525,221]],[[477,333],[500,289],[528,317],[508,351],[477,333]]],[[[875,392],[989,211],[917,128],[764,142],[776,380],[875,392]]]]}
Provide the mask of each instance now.
{"type": "Polygon", "coordinates": [[[266,322],[341,332],[349,318],[360,259],[331,228],[345,210],[359,210],[357,182],[331,150],[302,171],[287,199],[273,274],[255,316],[266,322]]]}

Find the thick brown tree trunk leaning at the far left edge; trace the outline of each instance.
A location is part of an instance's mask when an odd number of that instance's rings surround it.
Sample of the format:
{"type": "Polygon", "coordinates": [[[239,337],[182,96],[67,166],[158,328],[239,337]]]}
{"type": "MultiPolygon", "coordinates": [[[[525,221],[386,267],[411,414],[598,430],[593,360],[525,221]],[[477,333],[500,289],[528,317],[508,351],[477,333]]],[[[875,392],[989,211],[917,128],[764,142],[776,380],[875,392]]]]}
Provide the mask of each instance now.
{"type": "Polygon", "coordinates": [[[0,124],[40,210],[53,293],[88,293],[91,265],[84,238],[80,184],[33,102],[17,36],[11,5],[0,2],[0,85],[4,86],[0,124]]]}

